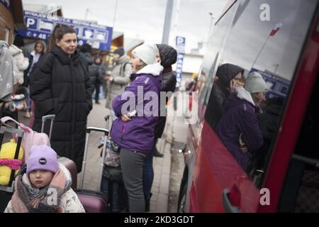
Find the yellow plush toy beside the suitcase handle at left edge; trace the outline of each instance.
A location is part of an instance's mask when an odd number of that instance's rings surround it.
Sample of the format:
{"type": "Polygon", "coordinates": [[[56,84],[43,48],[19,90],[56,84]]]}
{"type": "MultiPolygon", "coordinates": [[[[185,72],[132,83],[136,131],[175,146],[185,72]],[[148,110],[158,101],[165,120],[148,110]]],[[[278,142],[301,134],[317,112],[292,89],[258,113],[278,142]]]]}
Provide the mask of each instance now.
{"type": "Polygon", "coordinates": [[[18,160],[14,160],[16,153],[16,142],[12,139],[9,143],[1,145],[0,150],[0,185],[7,186],[10,181],[11,170],[18,173],[22,165],[23,149],[20,147],[18,160]]]}

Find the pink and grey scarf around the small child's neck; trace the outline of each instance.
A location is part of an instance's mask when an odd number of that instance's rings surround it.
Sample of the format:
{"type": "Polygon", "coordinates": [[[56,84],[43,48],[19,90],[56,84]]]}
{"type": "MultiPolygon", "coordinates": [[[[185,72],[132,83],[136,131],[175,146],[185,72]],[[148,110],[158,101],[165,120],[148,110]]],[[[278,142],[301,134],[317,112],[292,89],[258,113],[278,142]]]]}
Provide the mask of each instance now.
{"type": "Polygon", "coordinates": [[[59,163],[60,169],[53,176],[50,184],[43,189],[32,187],[26,166],[16,177],[15,192],[11,204],[16,213],[60,213],[62,195],[69,190],[72,179],[68,170],[59,163]]]}

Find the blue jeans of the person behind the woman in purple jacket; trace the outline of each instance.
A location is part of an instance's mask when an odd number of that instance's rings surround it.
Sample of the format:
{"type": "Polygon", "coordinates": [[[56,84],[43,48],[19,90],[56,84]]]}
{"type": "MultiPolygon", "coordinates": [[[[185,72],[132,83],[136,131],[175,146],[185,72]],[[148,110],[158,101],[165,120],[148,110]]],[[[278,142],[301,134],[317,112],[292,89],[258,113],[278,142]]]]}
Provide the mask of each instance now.
{"type": "Polygon", "coordinates": [[[153,153],[156,148],[156,143],[157,138],[154,139],[152,150],[147,154],[143,164],[143,191],[145,199],[150,199],[151,196],[151,189],[154,179],[153,153]]]}

